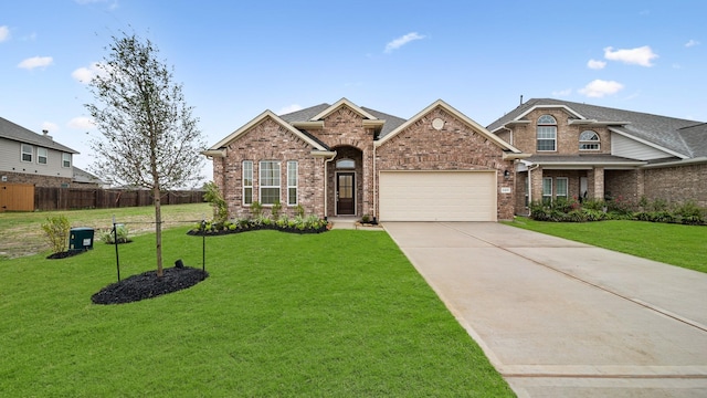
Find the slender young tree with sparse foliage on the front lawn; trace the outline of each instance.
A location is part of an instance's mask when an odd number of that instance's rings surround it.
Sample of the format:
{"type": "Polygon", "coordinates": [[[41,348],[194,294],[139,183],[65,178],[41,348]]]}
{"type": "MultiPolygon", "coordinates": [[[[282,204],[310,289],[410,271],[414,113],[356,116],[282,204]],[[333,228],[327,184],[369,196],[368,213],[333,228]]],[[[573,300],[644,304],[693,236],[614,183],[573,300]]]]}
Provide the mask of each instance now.
{"type": "Polygon", "coordinates": [[[93,139],[93,169],[113,184],[147,188],[155,202],[157,275],[162,275],[163,191],[201,180],[205,147],[180,84],[149,41],[113,36],[86,104],[102,137],[93,139]]]}

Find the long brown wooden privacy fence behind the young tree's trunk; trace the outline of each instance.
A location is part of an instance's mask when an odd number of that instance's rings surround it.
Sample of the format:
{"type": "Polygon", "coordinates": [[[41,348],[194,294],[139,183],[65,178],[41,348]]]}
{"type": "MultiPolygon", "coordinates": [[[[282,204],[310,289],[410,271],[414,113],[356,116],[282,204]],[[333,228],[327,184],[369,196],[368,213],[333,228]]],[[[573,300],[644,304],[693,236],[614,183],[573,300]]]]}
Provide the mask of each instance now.
{"type": "MultiPolygon", "coordinates": [[[[162,205],[201,203],[203,195],[202,190],[163,192],[162,205]]],[[[148,190],[34,187],[33,205],[33,210],[109,209],[150,206],[152,197],[148,190]]]]}

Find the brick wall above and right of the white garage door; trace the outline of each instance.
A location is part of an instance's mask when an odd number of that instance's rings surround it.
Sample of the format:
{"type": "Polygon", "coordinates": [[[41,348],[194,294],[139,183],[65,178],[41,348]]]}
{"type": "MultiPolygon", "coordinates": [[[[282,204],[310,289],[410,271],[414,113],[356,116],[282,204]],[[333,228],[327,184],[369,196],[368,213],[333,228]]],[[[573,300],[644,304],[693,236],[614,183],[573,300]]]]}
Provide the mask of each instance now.
{"type": "MultiPolygon", "coordinates": [[[[515,195],[500,193],[514,188],[514,163],[503,160],[503,150],[464,122],[435,107],[395,137],[377,148],[378,170],[497,170],[497,217],[513,219],[515,195]],[[443,119],[441,130],[432,121],[443,119]],[[509,179],[504,178],[508,170],[509,179]]],[[[378,209],[377,209],[378,210],[378,209]]]]}

